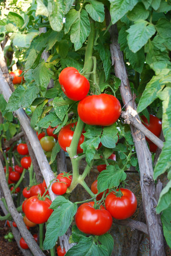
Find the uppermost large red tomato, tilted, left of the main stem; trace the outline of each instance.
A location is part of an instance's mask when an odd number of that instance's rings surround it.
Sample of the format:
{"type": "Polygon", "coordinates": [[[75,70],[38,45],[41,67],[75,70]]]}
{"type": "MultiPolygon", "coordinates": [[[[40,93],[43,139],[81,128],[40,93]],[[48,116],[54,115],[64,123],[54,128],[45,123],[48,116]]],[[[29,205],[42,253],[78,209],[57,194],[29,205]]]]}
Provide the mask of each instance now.
{"type": "Polygon", "coordinates": [[[89,81],[74,67],[64,68],[60,73],[59,82],[65,95],[72,100],[84,99],[90,89],[89,81]]]}

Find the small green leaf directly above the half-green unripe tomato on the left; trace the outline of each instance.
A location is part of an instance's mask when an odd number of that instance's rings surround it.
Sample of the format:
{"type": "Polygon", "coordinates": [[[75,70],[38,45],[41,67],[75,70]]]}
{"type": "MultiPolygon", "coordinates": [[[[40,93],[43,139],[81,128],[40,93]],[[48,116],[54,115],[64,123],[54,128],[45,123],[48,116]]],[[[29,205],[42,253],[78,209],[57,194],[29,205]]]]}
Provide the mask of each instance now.
{"type": "Polygon", "coordinates": [[[41,119],[37,126],[40,126],[42,128],[48,128],[49,125],[52,127],[56,127],[61,123],[61,120],[57,117],[55,112],[49,112],[48,115],[46,115],[43,119],[41,119]]]}

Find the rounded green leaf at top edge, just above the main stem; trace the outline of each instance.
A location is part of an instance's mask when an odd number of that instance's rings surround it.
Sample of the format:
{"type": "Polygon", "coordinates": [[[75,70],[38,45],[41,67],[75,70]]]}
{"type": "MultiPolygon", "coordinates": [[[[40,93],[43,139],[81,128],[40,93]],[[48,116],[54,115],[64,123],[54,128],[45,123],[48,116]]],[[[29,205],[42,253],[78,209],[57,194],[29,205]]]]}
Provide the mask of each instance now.
{"type": "Polygon", "coordinates": [[[103,22],[105,19],[105,10],[103,3],[96,0],[88,0],[90,4],[85,6],[85,10],[89,13],[91,18],[98,22],[103,22]]]}

